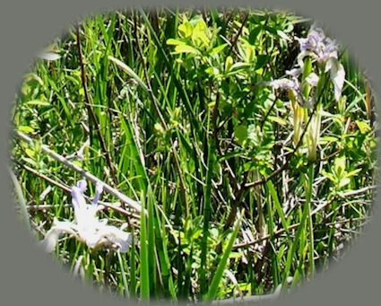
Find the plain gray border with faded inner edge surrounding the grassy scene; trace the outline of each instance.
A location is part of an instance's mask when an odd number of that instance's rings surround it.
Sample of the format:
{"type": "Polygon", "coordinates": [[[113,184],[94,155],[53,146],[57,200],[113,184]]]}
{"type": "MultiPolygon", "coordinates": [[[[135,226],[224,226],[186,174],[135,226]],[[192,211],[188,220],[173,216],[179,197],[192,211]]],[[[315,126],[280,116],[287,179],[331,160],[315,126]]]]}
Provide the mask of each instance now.
{"type": "MultiPolygon", "coordinates": [[[[70,22],[88,13],[99,13],[129,5],[181,4],[180,1],[111,1],[111,0],[3,0],[0,4],[0,137],[1,184],[0,213],[0,299],[8,305],[104,305],[133,304],[112,299],[90,286],[74,281],[56,263],[32,243],[22,223],[16,218],[10,197],[11,182],[7,172],[10,107],[14,92],[28,71],[33,55],[49,39],[60,35],[70,22]]],[[[292,0],[292,1],[187,1],[186,4],[236,5],[257,8],[283,8],[323,22],[359,57],[368,71],[373,86],[380,92],[381,35],[379,12],[381,3],[371,0],[292,0]]],[[[381,226],[379,197],[375,199],[373,222],[363,237],[351,246],[340,264],[317,275],[310,284],[276,304],[280,305],[358,305],[379,302],[381,265],[381,226]]]]}

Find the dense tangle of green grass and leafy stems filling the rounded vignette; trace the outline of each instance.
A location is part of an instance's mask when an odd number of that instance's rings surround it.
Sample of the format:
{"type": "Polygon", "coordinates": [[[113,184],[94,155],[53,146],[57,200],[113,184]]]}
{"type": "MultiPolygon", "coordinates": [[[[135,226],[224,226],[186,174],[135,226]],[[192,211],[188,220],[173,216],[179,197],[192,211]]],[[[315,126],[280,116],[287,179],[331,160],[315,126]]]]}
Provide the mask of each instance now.
{"type": "Polygon", "coordinates": [[[74,232],[54,230],[49,246],[100,290],[174,302],[287,291],[340,258],[368,221],[370,84],[306,19],[115,12],[39,57],[14,107],[16,194],[46,242],[55,220],[78,223],[78,197],[92,209],[81,179],[93,183],[94,209],[118,238],[102,240],[91,219],[90,238],[69,223],[74,232]]]}

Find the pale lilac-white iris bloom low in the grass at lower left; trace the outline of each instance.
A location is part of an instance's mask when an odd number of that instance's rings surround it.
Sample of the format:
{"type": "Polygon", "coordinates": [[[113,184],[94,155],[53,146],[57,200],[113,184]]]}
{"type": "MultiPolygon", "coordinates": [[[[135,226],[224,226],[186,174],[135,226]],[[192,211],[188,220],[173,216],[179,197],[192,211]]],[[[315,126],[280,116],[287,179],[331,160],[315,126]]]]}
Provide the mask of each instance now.
{"type": "Polygon", "coordinates": [[[98,205],[103,186],[97,183],[96,195],[91,205],[86,204],[83,196],[86,191],[86,180],[78,181],[72,188],[72,205],[74,207],[74,223],[54,220],[53,226],[42,241],[43,247],[51,252],[56,247],[57,240],[64,233],[73,235],[77,240],[85,243],[91,249],[102,246],[109,249],[126,252],[131,244],[131,234],[108,225],[108,220],[99,220],[96,214],[103,208],[98,205]]]}

